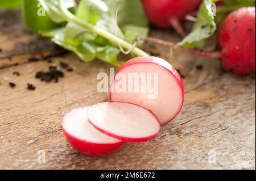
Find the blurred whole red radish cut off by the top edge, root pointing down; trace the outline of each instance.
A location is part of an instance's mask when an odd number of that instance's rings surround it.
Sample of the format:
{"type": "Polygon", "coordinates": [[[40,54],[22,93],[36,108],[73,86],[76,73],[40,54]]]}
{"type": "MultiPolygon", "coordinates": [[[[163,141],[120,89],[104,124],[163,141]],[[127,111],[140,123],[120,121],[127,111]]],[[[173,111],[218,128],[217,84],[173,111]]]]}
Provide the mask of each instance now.
{"type": "Polygon", "coordinates": [[[185,37],[185,32],[180,25],[185,16],[195,12],[201,0],[142,0],[144,10],[150,22],[161,28],[174,29],[185,37]]]}

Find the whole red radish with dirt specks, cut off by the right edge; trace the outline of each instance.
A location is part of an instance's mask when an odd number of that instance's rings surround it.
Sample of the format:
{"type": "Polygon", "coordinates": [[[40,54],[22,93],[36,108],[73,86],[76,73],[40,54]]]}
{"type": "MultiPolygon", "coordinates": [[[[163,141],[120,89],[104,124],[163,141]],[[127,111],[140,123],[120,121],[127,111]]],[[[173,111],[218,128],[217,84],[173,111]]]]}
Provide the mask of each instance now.
{"type": "Polygon", "coordinates": [[[231,12],[217,33],[225,70],[238,75],[255,73],[255,7],[231,12]]]}

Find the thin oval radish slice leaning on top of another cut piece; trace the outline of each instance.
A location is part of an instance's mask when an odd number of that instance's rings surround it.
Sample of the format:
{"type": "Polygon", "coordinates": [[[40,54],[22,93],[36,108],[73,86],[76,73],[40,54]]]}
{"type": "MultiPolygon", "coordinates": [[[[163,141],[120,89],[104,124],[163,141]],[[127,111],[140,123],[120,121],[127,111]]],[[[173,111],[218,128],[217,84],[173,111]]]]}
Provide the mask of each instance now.
{"type": "Polygon", "coordinates": [[[148,141],[160,131],[160,123],[151,111],[130,103],[96,104],[88,118],[99,131],[122,141],[148,141]]]}

